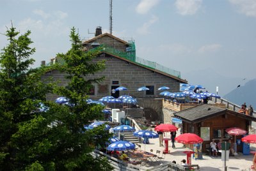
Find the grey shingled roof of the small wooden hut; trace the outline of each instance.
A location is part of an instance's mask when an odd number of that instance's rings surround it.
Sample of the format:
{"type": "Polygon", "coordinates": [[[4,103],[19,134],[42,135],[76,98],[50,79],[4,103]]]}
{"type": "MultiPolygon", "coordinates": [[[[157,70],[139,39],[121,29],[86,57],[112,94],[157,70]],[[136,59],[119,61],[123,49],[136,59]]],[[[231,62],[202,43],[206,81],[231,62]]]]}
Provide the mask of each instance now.
{"type": "Polygon", "coordinates": [[[199,123],[204,120],[210,119],[211,117],[216,117],[223,114],[232,114],[237,117],[242,117],[243,119],[256,121],[255,117],[249,115],[240,114],[227,108],[216,107],[214,105],[198,105],[196,107],[188,108],[180,112],[175,112],[173,115],[186,123],[199,123]]]}

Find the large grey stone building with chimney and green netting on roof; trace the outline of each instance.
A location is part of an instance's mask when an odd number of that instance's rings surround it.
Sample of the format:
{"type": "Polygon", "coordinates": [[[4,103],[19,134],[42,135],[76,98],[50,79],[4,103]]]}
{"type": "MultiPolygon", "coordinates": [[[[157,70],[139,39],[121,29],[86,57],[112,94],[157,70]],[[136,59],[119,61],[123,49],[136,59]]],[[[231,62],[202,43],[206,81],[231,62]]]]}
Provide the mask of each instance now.
{"type": "MultiPolygon", "coordinates": [[[[105,77],[103,82],[93,86],[89,94],[93,100],[99,100],[104,96],[117,98],[120,95],[129,94],[138,98],[139,105],[143,107],[143,99],[154,101],[155,98],[161,97],[159,95],[161,91],[157,90],[159,87],[167,86],[170,87],[168,91],[177,92],[180,83],[187,83],[187,80],[180,78],[179,71],[136,57],[136,48],[132,38],[120,39],[109,33],[102,34],[101,27],[97,27],[94,38],[83,42],[83,47],[84,52],[100,49],[100,54],[93,60],[106,61],[106,70],[88,75],[88,78],[105,77]],[[127,91],[112,91],[120,86],[126,87],[127,91]],[[139,87],[143,86],[148,87],[149,90],[137,91],[139,87]]],[[[67,85],[65,73],[60,73],[60,71],[51,71],[45,77],[60,80],[60,85],[67,85]]],[[[48,98],[54,100],[57,97],[51,94],[48,98]]],[[[159,103],[156,103],[156,105],[152,101],[150,101],[150,104],[147,103],[148,115],[154,113],[156,118],[161,118],[156,114],[163,115],[163,112],[159,112],[162,105],[159,103]],[[150,104],[152,104],[152,107],[150,107],[150,104]]]]}

